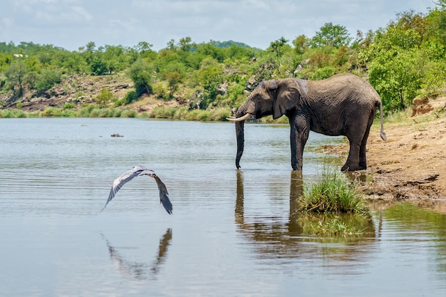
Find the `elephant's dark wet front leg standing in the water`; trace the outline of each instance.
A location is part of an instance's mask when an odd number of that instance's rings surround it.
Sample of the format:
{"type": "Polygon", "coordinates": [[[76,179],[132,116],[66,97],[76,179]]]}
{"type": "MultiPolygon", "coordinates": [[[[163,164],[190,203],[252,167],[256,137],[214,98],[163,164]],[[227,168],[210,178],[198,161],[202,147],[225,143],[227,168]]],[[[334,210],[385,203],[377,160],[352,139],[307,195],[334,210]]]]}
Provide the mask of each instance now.
{"type": "Polygon", "coordinates": [[[306,140],[308,140],[308,135],[310,134],[308,127],[309,125],[305,118],[297,118],[294,120],[294,123],[291,124],[291,167],[293,170],[302,170],[304,147],[306,140]]]}

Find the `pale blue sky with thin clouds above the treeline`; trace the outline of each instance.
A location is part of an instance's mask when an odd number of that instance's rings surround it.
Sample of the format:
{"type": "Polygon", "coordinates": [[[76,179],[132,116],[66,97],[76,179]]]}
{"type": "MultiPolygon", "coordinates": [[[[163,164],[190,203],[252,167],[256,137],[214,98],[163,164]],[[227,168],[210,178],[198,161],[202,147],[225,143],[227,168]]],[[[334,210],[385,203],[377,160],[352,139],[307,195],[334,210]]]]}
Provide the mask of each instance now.
{"type": "Polygon", "coordinates": [[[237,41],[266,49],[284,37],[309,38],[326,23],[358,30],[385,28],[396,14],[426,13],[433,0],[1,0],[0,42],[52,44],[68,51],[136,46],[159,51],[172,39],[237,41]]]}

